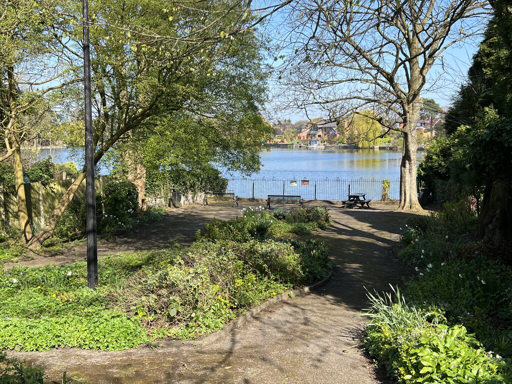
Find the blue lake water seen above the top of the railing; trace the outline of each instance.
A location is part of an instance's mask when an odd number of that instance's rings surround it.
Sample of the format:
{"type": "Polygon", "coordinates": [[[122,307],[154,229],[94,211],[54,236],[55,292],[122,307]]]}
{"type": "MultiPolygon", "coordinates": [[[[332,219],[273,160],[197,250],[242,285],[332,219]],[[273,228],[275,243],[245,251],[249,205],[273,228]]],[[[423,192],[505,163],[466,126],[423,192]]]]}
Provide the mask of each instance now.
{"type": "MultiPolygon", "coordinates": [[[[398,179],[401,156],[401,152],[391,151],[271,148],[261,153],[263,166],[250,178],[398,179]]],[[[418,159],[422,156],[423,153],[418,152],[418,159]]]]}

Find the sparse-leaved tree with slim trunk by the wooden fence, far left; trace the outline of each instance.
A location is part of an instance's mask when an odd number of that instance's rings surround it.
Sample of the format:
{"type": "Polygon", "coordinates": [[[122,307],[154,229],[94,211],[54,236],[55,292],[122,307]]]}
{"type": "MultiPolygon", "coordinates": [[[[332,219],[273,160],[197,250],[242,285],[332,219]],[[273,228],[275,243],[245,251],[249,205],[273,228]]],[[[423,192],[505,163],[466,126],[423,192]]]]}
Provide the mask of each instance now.
{"type": "Polygon", "coordinates": [[[42,121],[79,81],[73,60],[65,51],[66,24],[58,15],[67,5],[60,0],[10,0],[0,10],[0,161],[12,157],[19,229],[29,241],[21,145],[40,134],[42,121]]]}

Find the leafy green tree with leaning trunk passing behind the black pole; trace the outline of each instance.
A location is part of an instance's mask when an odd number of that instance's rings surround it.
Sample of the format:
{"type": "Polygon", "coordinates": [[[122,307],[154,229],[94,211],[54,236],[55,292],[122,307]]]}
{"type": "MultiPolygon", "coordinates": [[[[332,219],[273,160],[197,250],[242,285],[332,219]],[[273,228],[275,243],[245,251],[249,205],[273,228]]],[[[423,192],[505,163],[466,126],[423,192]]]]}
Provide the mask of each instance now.
{"type": "MultiPolygon", "coordinates": [[[[247,121],[257,118],[252,111],[260,99],[250,96],[265,88],[265,71],[253,71],[256,60],[259,65],[262,61],[251,56],[248,49],[262,44],[250,29],[258,19],[248,4],[233,0],[200,2],[190,7],[157,0],[127,0],[91,2],[90,10],[96,163],[121,141],[133,139],[140,143],[141,138],[150,137],[162,119],[175,114],[202,121],[212,134],[220,133],[210,144],[229,153],[235,161],[242,162],[245,156],[255,161],[253,152],[243,151],[249,136],[233,132],[239,127],[232,124],[216,125],[216,119],[227,116],[236,104],[230,98],[231,87],[238,85],[238,92],[246,93],[240,98],[243,103],[236,105],[251,111],[243,116],[247,121]],[[239,81],[235,81],[237,78],[239,81]],[[244,85],[248,79],[251,81],[244,85]],[[259,88],[251,89],[257,83],[259,88]],[[226,131],[219,131],[223,127],[226,131]],[[223,140],[225,137],[233,141],[223,140]]],[[[74,14],[78,12],[75,10],[74,14]]],[[[81,29],[70,32],[70,36],[79,47],[81,29]]],[[[77,50],[75,54],[79,56],[77,50]]],[[[193,142],[187,144],[190,148],[193,142]]],[[[173,157],[176,148],[168,149],[166,155],[173,157]]],[[[194,150],[187,154],[193,155],[194,150]]],[[[84,177],[82,170],[60,198],[45,227],[32,238],[31,248],[37,248],[52,235],[84,177]]]]}

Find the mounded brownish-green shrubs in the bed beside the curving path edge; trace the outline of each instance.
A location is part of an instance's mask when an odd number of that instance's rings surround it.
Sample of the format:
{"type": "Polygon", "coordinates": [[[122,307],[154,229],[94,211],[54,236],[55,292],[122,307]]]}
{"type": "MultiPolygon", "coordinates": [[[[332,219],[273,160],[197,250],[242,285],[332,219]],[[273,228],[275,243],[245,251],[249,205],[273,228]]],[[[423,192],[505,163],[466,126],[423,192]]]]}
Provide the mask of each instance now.
{"type": "Polygon", "coordinates": [[[243,308],[304,279],[291,245],[198,241],[162,252],[116,292],[118,306],[139,316],[151,334],[191,338],[218,330],[243,308]]]}

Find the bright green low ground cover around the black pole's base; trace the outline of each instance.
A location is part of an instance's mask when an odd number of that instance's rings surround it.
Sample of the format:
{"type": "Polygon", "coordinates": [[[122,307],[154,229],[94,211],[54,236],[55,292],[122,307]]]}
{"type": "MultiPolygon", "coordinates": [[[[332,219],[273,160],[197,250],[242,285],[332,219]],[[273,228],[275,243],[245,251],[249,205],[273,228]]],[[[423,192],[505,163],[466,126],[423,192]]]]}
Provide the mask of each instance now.
{"type": "MultiPolygon", "coordinates": [[[[87,288],[87,268],[12,268],[0,273],[0,343],[7,349],[54,347],[119,350],[147,340],[140,322],[109,305],[109,292],[126,274],[147,262],[147,254],[99,262],[100,289],[87,288]]],[[[151,260],[151,259],[150,259],[151,260]]]]}

